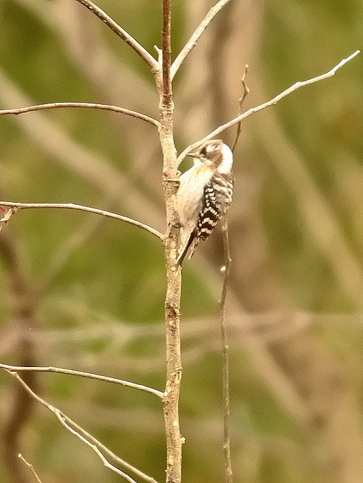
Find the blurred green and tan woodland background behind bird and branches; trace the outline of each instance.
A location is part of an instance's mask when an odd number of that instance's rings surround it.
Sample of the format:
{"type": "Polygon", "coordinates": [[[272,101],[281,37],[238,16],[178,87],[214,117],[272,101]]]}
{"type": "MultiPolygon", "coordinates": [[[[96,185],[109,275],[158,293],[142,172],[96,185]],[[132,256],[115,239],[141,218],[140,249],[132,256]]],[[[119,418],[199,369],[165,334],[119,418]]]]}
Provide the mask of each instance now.
{"type": "MultiPolygon", "coordinates": [[[[99,6],[149,52],[161,1],[99,6]]],[[[173,2],[174,57],[213,1],[173,2]]],[[[232,0],[175,77],[178,150],[362,47],[360,0],[232,0]]],[[[143,61],[75,0],[0,1],[0,108],[111,103],[157,117],[143,61]]],[[[363,57],[248,117],[235,152],[228,299],[235,482],[363,481],[363,57]]],[[[234,128],[224,132],[231,144],[234,128]]],[[[0,118],[0,198],[114,210],[164,230],[157,132],[115,112],[0,118]]],[[[183,168],[188,167],[188,161],[183,168]]],[[[163,252],[135,226],[24,210],[0,235],[1,362],[60,366],[163,390],[163,252]]],[[[216,230],[184,268],[184,481],[223,481],[216,230]],[[212,462],[212,464],[211,464],[212,462]]],[[[30,378],[30,380],[29,380],[30,378]]],[[[28,375],[48,402],[164,481],[161,404],[129,388],[28,375]]],[[[118,482],[0,375],[1,483],[118,482]]],[[[137,480],[137,477],[136,477],[137,480]]],[[[139,481],[139,480],[137,480],[139,481]]],[[[140,480],[141,481],[141,480],[140,480]]]]}

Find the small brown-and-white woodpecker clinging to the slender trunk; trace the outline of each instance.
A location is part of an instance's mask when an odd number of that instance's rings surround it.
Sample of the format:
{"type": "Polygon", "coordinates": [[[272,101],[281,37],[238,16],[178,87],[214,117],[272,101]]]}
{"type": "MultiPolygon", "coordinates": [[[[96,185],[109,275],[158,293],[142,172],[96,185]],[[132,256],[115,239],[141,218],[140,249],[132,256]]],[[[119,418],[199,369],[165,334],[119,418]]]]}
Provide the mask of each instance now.
{"type": "Polygon", "coordinates": [[[232,199],[232,151],[221,139],[204,143],[194,166],[180,177],[175,207],[179,215],[180,235],[177,259],[183,262],[189,250],[190,259],[199,240],[205,240],[227,212],[232,199]]]}

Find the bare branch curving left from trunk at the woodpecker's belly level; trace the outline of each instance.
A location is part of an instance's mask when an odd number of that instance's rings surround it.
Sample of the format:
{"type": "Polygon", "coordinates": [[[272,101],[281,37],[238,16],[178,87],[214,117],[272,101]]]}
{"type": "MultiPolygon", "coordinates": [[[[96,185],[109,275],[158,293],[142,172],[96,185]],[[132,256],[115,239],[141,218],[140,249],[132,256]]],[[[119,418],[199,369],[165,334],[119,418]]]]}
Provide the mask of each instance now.
{"type": "MultiPolygon", "coordinates": [[[[123,217],[121,215],[117,215],[116,213],[110,213],[110,211],[99,210],[97,208],[90,208],[89,206],[76,205],[73,203],[13,203],[12,201],[0,201],[0,205],[11,206],[12,208],[17,208],[18,210],[25,210],[26,208],[68,208],[70,210],[87,211],[88,213],[95,213],[96,215],[103,215],[105,217],[126,221],[126,223],[139,226],[139,228],[143,228],[149,233],[153,233],[155,237],[158,237],[161,240],[164,239],[164,235],[162,233],[155,230],[154,228],[151,228],[148,225],[145,225],[144,223],[141,223],[141,221],[136,221],[135,219],[123,217]]],[[[0,221],[6,221],[5,218],[6,217],[4,217],[3,219],[0,219],[0,221]]]]}

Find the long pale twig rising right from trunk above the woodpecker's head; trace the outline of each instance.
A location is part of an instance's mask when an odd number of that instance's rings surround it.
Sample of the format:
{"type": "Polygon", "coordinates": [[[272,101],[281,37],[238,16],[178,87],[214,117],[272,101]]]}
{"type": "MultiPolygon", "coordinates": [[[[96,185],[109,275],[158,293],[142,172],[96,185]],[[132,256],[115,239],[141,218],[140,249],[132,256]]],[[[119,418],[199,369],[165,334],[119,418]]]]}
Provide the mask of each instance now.
{"type": "Polygon", "coordinates": [[[235,126],[235,124],[237,124],[239,121],[242,121],[242,119],[245,119],[246,117],[251,116],[255,112],[258,112],[259,110],[268,108],[269,106],[273,106],[280,99],[282,99],[283,97],[286,97],[288,94],[291,94],[291,92],[299,89],[300,87],[307,86],[308,84],[311,84],[313,82],[322,81],[323,79],[328,79],[328,77],[332,77],[333,75],[335,75],[335,72],[338,69],[340,69],[342,66],[344,66],[344,64],[349,62],[351,59],[353,59],[353,57],[355,57],[359,53],[360,53],[360,50],[356,50],[352,55],[349,55],[349,57],[340,61],[340,63],[338,63],[337,66],[335,66],[333,69],[329,70],[329,72],[326,72],[325,74],[320,75],[318,77],[313,77],[313,79],[308,79],[307,81],[295,82],[295,84],[293,84],[293,86],[284,90],[284,92],[281,92],[279,95],[277,95],[276,97],[271,99],[271,101],[267,101],[263,104],[260,104],[259,106],[255,107],[255,108],[248,109],[243,114],[235,117],[235,119],[232,119],[232,121],[229,121],[226,124],[219,126],[219,128],[215,129],[213,132],[210,132],[210,134],[208,134],[208,136],[204,137],[203,139],[200,139],[199,141],[196,141],[193,144],[190,144],[190,146],[188,146],[188,148],[184,149],[184,151],[181,152],[181,155],[179,155],[179,157],[178,157],[178,163],[180,164],[181,161],[183,161],[183,159],[186,157],[186,155],[188,155],[189,152],[195,150],[196,148],[199,148],[199,146],[201,146],[205,141],[208,141],[209,139],[213,139],[213,137],[219,135],[224,130],[226,130],[226,129],[232,127],[232,126],[235,126]]]}

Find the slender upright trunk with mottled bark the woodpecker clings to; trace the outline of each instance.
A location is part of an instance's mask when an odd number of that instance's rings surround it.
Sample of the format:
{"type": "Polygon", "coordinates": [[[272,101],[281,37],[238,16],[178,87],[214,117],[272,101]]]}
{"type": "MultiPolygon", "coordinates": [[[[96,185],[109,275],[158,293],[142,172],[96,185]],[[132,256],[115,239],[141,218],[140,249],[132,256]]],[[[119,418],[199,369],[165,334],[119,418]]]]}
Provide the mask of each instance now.
{"type": "Polygon", "coordinates": [[[181,482],[181,435],[179,428],[179,388],[181,380],[179,307],[181,268],[177,264],[179,226],[174,210],[175,193],[179,186],[177,152],[173,139],[174,103],[170,79],[170,0],[163,0],[162,78],[157,79],[160,95],[159,135],[164,156],[163,186],[166,203],[166,238],[164,242],[167,289],[166,322],[166,393],[164,420],[166,428],[166,482],[181,482]]]}

